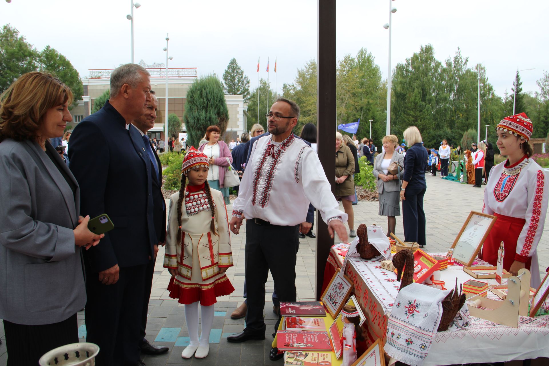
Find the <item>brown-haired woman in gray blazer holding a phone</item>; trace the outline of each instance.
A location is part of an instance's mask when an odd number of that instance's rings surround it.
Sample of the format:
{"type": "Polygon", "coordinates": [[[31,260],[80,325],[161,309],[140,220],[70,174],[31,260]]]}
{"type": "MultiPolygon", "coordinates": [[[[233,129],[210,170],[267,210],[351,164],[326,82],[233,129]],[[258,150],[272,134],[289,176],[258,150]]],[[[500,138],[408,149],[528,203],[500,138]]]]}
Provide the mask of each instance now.
{"type": "Polygon", "coordinates": [[[80,247],[103,235],[79,218],[80,190],[49,143],[72,121],[72,93],[43,72],[22,75],[0,96],[0,318],[9,365],[78,342],[86,305],[80,247]],[[9,274],[9,277],[8,277],[9,274]]]}

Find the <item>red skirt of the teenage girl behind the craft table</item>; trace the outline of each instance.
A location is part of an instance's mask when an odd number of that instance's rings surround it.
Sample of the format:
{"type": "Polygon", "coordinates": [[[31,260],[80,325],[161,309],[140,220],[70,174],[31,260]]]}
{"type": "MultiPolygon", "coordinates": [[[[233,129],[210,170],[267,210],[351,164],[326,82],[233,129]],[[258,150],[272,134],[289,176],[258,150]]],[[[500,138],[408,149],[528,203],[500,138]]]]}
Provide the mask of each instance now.
{"type": "MultiPolygon", "coordinates": [[[[520,232],[522,232],[526,220],[524,218],[500,215],[495,212],[494,216],[497,217],[496,222],[484,241],[479,258],[492,264],[492,266],[496,266],[497,251],[500,249],[500,242],[503,240],[503,248],[505,249],[503,269],[509,271],[511,264],[515,261],[518,237],[520,232]]],[[[526,269],[530,269],[531,261],[532,257],[529,257],[526,262],[526,269]]]]}

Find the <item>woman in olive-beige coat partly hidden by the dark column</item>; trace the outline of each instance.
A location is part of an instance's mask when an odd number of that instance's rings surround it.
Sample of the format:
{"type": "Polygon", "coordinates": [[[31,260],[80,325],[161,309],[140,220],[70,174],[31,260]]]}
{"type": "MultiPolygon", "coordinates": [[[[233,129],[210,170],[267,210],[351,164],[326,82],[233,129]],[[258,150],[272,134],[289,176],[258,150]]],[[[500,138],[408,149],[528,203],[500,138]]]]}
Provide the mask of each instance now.
{"type": "Polygon", "coordinates": [[[352,174],[355,172],[355,158],[343,142],[341,133],[335,132],[335,198],[343,204],[345,213],[349,215],[349,237],[356,237],[354,212],[352,202],[355,201],[355,182],[352,174]]]}

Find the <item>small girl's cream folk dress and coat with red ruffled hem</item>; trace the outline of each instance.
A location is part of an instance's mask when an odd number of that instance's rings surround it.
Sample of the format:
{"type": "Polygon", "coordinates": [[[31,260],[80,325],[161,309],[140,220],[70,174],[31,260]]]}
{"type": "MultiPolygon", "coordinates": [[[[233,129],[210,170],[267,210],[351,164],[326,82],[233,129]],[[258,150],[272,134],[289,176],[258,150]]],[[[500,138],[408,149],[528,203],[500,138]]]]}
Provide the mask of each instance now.
{"type": "Polygon", "coordinates": [[[204,190],[185,192],[182,202],[181,230],[177,223],[179,192],[170,197],[164,267],[177,269],[168,290],[170,297],[182,304],[200,301],[216,303],[216,297],[234,291],[220,267],[232,267],[231,235],[225,201],[219,190],[210,189],[214,200],[216,232],[210,231],[212,211],[204,190]]]}

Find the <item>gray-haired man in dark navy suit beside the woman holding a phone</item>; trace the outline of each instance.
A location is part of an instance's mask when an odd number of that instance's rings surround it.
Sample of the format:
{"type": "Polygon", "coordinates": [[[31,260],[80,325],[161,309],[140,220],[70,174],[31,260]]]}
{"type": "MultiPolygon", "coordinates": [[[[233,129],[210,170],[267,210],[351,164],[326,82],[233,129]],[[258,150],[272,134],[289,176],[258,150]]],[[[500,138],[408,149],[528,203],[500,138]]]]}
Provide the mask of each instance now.
{"type": "Polygon", "coordinates": [[[81,214],[107,213],[114,229],[85,251],[87,340],[100,347],[98,365],[138,365],[143,292],[158,244],[154,228],[154,170],[131,121],[152,102],[150,75],[126,64],[110,76],[110,100],[71,136],[72,173],[81,214]]]}

